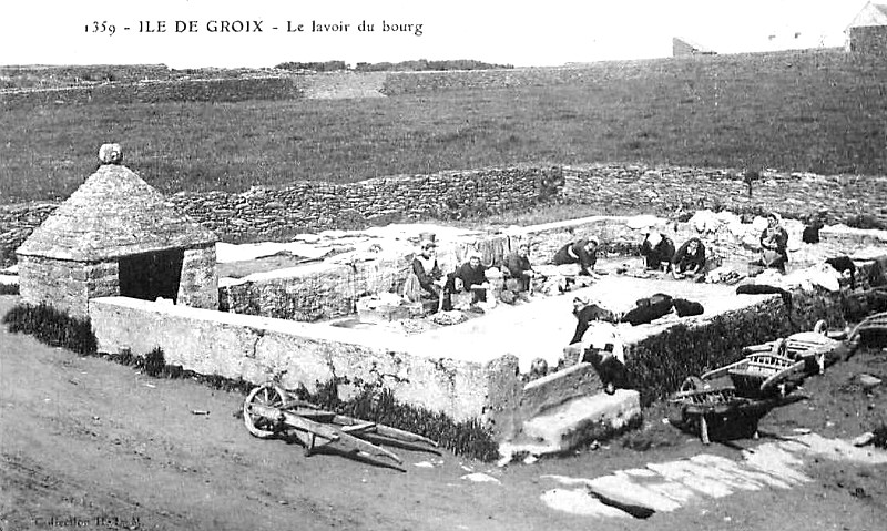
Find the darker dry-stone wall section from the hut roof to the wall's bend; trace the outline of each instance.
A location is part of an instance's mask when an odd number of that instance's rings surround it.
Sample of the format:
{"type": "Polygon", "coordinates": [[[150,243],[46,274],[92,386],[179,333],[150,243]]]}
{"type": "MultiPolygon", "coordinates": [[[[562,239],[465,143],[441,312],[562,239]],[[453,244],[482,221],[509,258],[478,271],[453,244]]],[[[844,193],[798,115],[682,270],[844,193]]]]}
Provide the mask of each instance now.
{"type": "Polygon", "coordinates": [[[485,169],[349,184],[300,182],[241,194],[180,193],[170,201],[223,239],[238,241],[293,228],[361,228],[527,208],[557,194],[559,174],[549,167],[485,169]]]}

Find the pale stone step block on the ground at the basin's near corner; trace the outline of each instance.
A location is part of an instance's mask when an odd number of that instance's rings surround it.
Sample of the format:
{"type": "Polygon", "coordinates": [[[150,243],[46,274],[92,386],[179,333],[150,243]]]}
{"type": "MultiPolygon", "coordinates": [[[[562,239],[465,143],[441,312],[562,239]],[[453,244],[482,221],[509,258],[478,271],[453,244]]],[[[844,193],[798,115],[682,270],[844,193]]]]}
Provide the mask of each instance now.
{"type": "Polygon", "coordinates": [[[616,389],[613,395],[578,397],[524,421],[522,433],[514,442],[504,443],[504,451],[561,453],[592,440],[606,439],[640,418],[640,394],[635,390],[616,389]]]}

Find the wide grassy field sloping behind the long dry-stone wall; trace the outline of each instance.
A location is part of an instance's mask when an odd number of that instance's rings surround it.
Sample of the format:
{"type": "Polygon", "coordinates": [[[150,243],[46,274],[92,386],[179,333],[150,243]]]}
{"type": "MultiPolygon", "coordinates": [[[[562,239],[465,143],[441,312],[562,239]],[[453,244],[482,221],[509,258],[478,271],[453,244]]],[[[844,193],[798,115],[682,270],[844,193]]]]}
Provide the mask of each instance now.
{"type": "Polygon", "coordinates": [[[98,146],[164,191],[519,163],[887,173],[887,64],[839,51],[594,63],[581,82],[371,100],[53,105],[0,118],[0,203],[65,197],[98,146]]]}

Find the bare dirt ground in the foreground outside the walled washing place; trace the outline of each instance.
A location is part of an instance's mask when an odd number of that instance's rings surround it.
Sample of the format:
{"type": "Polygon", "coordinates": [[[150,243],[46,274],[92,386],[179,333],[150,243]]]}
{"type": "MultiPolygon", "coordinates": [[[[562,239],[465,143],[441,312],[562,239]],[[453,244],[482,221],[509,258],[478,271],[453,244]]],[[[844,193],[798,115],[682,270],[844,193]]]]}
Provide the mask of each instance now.
{"type": "MultiPolygon", "coordinates": [[[[0,297],[0,315],[14,300],[0,297]]],[[[887,376],[887,355],[860,355],[809,380],[813,398],[772,412],[762,429],[852,437],[887,422],[887,391],[863,390],[859,371],[887,376]]],[[[601,521],[541,501],[557,487],[549,474],[594,478],[701,452],[740,459],[664,425],[656,409],[643,431],[594,451],[497,468],[398,450],[409,469],[401,473],[255,439],[235,416],[242,400],[0,328],[0,529],[874,531],[887,521],[887,468],[828,459],[807,464],[814,481],[802,487],[700,500],[648,520],[601,521]],[[469,471],[499,483],[462,479],[469,471]]]]}

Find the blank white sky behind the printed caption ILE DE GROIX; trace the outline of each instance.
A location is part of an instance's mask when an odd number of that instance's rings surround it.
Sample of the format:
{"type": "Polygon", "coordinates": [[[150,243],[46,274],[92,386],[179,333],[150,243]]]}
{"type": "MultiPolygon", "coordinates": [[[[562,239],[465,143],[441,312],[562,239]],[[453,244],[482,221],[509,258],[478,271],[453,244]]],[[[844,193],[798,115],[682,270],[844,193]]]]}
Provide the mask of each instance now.
{"type": "Polygon", "coordinates": [[[845,28],[866,3],[6,0],[0,7],[0,64],[146,63],[183,69],[475,59],[551,67],[669,57],[673,37],[718,53],[840,47],[845,28]],[[360,31],[361,22],[373,24],[373,31],[368,25],[360,31]]]}

